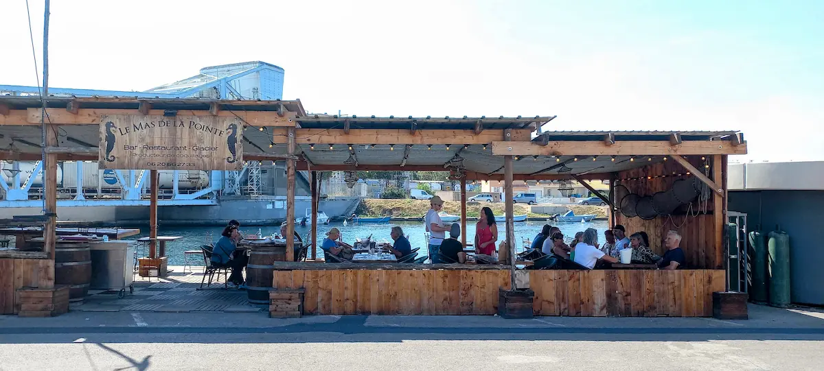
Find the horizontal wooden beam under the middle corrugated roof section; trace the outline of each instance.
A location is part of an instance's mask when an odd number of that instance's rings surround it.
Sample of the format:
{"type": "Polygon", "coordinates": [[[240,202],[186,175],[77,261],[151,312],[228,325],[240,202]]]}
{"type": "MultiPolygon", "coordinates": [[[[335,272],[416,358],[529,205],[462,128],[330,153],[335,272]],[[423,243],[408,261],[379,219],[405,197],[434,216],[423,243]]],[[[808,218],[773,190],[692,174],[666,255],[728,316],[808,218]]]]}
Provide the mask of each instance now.
{"type": "MultiPolygon", "coordinates": [[[[281,129],[279,132],[284,131],[281,129]]],[[[529,141],[531,131],[528,129],[513,129],[513,141],[529,141]]],[[[344,129],[297,129],[297,144],[394,144],[394,145],[427,145],[427,144],[489,144],[499,141],[503,137],[503,130],[487,129],[475,135],[473,130],[417,130],[411,133],[405,129],[350,129],[347,134],[344,129]]],[[[284,144],[286,137],[273,137],[275,144],[284,144]]]]}

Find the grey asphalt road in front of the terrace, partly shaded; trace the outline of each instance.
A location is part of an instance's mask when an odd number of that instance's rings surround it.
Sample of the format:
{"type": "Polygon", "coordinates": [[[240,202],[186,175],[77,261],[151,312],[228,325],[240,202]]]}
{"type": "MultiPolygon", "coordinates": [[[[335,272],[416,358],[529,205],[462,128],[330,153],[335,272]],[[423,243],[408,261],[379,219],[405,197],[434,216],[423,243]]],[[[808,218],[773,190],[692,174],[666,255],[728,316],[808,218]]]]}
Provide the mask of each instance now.
{"type": "Polygon", "coordinates": [[[822,318],[2,316],[0,369],[820,370],[822,318]]]}

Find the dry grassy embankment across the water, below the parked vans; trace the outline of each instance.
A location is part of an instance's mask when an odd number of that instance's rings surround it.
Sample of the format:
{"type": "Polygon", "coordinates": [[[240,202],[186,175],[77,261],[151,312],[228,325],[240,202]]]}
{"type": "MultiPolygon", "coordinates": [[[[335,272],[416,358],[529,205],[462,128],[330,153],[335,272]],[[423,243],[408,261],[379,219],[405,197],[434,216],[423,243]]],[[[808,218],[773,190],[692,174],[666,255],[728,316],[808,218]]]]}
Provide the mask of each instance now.
{"type": "MultiPolygon", "coordinates": [[[[481,203],[467,203],[466,216],[476,218],[480,216],[481,207],[489,206],[492,212],[497,215],[503,215],[503,202],[481,202],[481,203]]],[[[529,206],[522,204],[515,204],[515,215],[528,214],[530,217],[550,217],[544,214],[534,214],[530,212],[529,206]]],[[[581,206],[569,205],[569,209],[575,211],[575,214],[596,214],[597,216],[606,216],[606,207],[602,206],[581,206]]],[[[364,199],[355,213],[358,216],[393,216],[396,218],[419,218],[426,214],[429,210],[429,202],[427,200],[412,200],[412,199],[364,199]]],[[[443,202],[443,212],[456,216],[461,215],[461,202],[443,202]]]]}

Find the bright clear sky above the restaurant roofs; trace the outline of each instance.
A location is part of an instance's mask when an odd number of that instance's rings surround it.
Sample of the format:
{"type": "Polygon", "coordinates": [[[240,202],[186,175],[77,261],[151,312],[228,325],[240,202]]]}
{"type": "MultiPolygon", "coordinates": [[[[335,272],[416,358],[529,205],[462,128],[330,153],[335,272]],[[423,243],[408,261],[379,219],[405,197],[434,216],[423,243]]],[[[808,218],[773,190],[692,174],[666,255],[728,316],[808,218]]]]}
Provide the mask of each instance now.
{"type": "MultiPolygon", "coordinates": [[[[740,130],[734,160],[824,160],[822,20],[824,1],[54,0],[49,86],[145,90],[260,60],[311,112],[740,130]]],[[[35,85],[25,0],[2,0],[0,25],[0,84],[35,85]]]]}

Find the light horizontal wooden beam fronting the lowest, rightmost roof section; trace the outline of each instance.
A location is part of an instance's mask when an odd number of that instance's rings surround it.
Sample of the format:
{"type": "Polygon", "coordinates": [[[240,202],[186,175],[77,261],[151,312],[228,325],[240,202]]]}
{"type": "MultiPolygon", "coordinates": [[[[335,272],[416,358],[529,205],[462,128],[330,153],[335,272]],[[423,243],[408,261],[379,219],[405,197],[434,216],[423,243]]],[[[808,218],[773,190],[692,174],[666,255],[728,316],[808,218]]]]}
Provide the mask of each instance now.
{"type": "Polygon", "coordinates": [[[746,155],[747,146],[730,141],[685,141],[672,146],[669,141],[619,141],[606,146],[603,141],[551,141],[539,146],[531,141],[493,141],[493,155],[746,155]]]}

